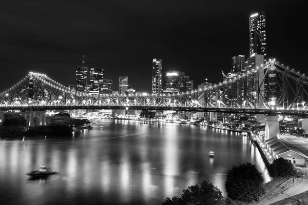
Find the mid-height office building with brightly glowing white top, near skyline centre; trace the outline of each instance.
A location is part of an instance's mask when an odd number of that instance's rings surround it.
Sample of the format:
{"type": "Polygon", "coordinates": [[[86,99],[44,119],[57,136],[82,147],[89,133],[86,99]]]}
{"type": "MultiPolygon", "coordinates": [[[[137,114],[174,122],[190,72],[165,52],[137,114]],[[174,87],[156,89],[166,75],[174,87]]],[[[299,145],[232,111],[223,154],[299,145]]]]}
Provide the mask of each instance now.
{"type": "Polygon", "coordinates": [[[165,89],[164,94],[176,94],[180,91],[180,77],[185,75],[185,72],[172,71],[165,74],[165,89]]]}

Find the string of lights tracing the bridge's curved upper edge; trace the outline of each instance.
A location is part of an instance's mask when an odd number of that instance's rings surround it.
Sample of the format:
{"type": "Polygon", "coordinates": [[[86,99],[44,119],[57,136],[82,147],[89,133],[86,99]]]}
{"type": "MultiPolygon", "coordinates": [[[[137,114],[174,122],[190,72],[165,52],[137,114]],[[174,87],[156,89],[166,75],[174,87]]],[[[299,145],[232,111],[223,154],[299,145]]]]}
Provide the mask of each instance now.
{"type": "MultiPolygon", "coordinates": [[[[243,77],[246,77],[246,76],[249,76],[249,75],[253,75],[257,71],[264,70],[265,67],[268,66],[269,62],[271,62],[271,61],[272,61],[272,59],[269,59],[268,61],[265,62],[264,65],[261,64],[261,67],[257,66],[255,69],[252,69],[251,71],[247,71],[246,73],[243,73],[240,76],[235,76],[232,79],[229,79],[228,81],[225,80],[225,81],[223,81],[223,83],[214,84],[213,86],[206,86],[203,89],[199,89],[199,91],[195,90],[195,91],[191,91],[191,92],[187,91],[186,93],[182,92],[182,93],[178,93],[178,94],[171,94],[171,95],[168,94],[168,96],[180,96],[180,95],[183,95],[183,94],[187,95],[187,94],[197,93],[197,92],[200,92],[200,91],[212,90],[212,89],[215,89],[217,87],[225,86],[225,85],[230,84],[230,83],[235,83],[236,80],[240,80],[243,77]]],[[[303,78],[308,80],[308,77],[306,77],[304,73],[301,74],[299,71],[296,72],[294,69],[290,69],[288,66],[284,66],[283,64],[280,64],[279,61],[276,61],[275,58],[273,59],[273,61],[275,61],[275,63],[278,64],[278,66],[284,67],[286,70],[292,72],[293,74],[300,75],[301,77],[303,77],[303,78]]],[[[37,77],[38,79],[40,79],[41,81],[43,81],[44,83],[46,83],[47,85],[49,85],[49,86],[51,86],[51,87],[53,87],[55,89],[59,89],[59,90],[64,91],[64,92],[69,92],[70,94],[76,94],[78,96],[92,96],[92,97],[100,97],[100,96],[131,96],[131,94],[129,94],[129,95],[122,95],[122,94],[115,94],[115,95],[112,95],[112,94],[92,95],[92,94],[89,94],[89,93],[83,93],[83,92],[79,92],[79,91],[74,91],[74,90],[72,90],[72,89],[70,89],[68,87],[63,86],[62,84],[58,83],[57,81],[51,79],[46,74],[37,73],[37,72],[29,72],[29,74],[27,74],[22,80],[18,81],[18,83],[16,83],[15,85],[13,85],[11,88],[7,89],[6,91],[2,92],[0,95],[5,94],[6,96],[8,96],[8,92],[9,91],[13,90],[18,85],[23,83],[24,80],[27,77],[30,77],[31,75],[34,75],[35,77],[37,77]]],[[[136,95],[136,94],[134,94],[134,95],[136,95]]],[[[149,96],[158,97],[159,95],[149,95],[149,96]]],[[[163,96],[166,96],[166,95],[163,94],[163,96]]]]}

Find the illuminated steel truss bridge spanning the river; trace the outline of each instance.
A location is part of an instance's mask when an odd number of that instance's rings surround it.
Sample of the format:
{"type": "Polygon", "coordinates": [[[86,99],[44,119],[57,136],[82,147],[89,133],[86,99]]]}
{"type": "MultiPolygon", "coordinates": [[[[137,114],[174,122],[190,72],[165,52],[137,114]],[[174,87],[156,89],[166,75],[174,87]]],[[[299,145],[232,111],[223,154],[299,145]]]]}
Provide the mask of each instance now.
{"type": "Polygon", "coordinates": [[[0,93],[0,110],[147,109],[308,116],[307,89],[305,74],[275,59],[223,83],[168,95],[92,95],[29,72],[0,93]]]}

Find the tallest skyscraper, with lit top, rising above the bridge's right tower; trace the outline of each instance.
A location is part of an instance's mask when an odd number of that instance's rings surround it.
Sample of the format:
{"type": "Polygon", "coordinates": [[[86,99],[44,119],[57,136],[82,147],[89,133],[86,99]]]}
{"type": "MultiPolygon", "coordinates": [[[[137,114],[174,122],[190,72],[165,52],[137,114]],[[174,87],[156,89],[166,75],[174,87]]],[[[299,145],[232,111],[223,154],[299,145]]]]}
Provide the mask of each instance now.
{"type": "Polygon", "coordinates": [[[266,60],[266,32],[265,11],[255,13],[249,17],[249,56],[261,54],[266,60]]]}

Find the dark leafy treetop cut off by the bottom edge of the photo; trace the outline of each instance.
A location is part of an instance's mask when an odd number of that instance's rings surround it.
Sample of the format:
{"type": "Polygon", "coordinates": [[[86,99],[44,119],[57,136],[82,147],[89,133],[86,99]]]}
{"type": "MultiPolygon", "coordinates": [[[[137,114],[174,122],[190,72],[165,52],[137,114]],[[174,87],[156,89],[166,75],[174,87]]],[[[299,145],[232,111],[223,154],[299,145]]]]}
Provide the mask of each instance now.
{"type": "Polygon", "coordinates": [[[178,196],[172,197],[172,199],[167,198],[163,205],[184,205],[184,204],[222,204],[223,196],[221,191],[212,185],[212,183],[208,183],[207,181],[203,181],[201,185],[196,184],[195,186],[188,187],[188,189],[183,190],[182,197],[178,196]]]}

